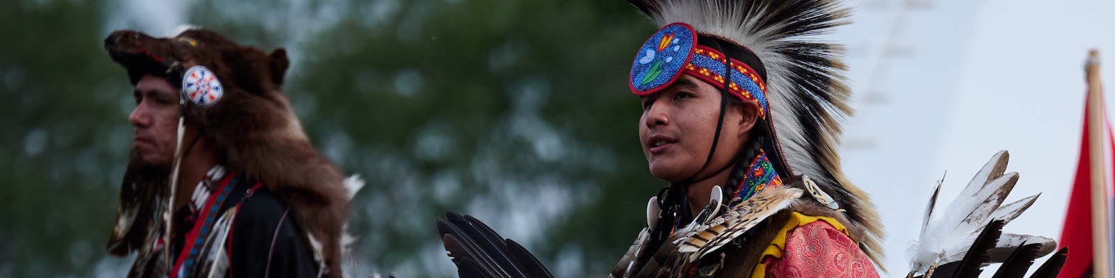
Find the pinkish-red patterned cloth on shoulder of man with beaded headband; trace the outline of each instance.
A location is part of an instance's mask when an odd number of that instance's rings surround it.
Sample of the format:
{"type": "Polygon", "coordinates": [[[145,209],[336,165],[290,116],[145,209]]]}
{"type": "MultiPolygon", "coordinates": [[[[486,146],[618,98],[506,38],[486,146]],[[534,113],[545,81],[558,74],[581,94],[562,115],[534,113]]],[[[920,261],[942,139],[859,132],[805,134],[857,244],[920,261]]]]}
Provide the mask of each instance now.
{"type": "Polygon", "coordinates": [[[786,234],[782,258],[764,258],[766,277],[879,277],[860,247],[825,221],[786,234]]]}

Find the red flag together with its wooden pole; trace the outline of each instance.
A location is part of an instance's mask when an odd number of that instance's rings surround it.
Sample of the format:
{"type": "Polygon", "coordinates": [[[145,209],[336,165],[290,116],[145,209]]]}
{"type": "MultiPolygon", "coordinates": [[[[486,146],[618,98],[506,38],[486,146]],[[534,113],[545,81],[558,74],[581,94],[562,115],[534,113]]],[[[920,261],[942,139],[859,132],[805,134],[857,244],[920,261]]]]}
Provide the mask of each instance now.
{"type": "Polygon", "coordinates": [[[1111,123],[1107,121],[1103,106],[1103,96],[1098,81],[1097,56],[1093,52],[1089,57],[1087,68],[1088,98],[1085,101],[1084,127],[1080,135],[1080,158],[1076,166],[1076,178],[1073,181],[1073,189],[1069,192],[1068,211],[1065,216],[1065,227],[1060,234],[1060,246],[1068,247],[1069,256],[1061,268],[1059,278],[1079,278],[1092,274],[1096,277],[1109,277],[1111,260],[1111,224],[1112,224],[1112,172],[1115,172],[1115,163],[1112,163],[1112,150],[1115,149],[1115,140],[1112,140],[1111,123]],[[1098,113],[1090,113],[1093,109],[1098,113]],[[1101,125],[1093,125],[1099,121],[1101,125]],[[1098,132],[1092,132],[1092,129],[1098,132]],[[1097,141],[1098,140],[1098,141],[1097,141]],[[1096,148],[1097,150],[1094,150],[1096,148]],[[1097,176],[1096,171],[1102,171],[1097,176]],[[1103,182],[1099,188],[1106,188],[1104,192],[1105,203],[1093,206],[1094,179],[1102,177],[1098,182],[1103,182]],[[1103,212],[1099,221],[1093,218],[1093,212],[1099,208],[1103,212]],[[1105,220],[1106,219],[1106,220],[1105,220]],[[1099,229],[1106,226],[1105,229],[1099,229]],[[1097,236],[1103,235],[1103,236],[1097,236]],[[1098,239],[1098,240],[1097,240],[1098,239]],[[1101,242],[1096,242],[1101,241],[1101,242]],[[1102,249],[1097,249],[1102,248],[1102,249]],[[1098,257],[1106,257],[1096,261],[1098,257]],[[1105,272],[1103,275],[1096,271],[1105,272]]]}

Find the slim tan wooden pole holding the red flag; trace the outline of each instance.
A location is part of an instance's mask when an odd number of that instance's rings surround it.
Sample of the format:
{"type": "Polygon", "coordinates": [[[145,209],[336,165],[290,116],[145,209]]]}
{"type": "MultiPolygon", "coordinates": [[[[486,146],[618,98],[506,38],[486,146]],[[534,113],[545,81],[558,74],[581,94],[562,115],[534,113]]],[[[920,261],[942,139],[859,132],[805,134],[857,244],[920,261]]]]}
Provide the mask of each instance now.
{"type": "Polygon", "coordinates": [[[1093,270],[1096,278],[1112,278],[1111,274],[1111,238],[1107,211],[1107,182],[1104,145],[1104,97],[1099,83],[1099,51],[1088,51],[1088,60],[1084,66],[1085,80],[1088,83],[1088,159],[1092,172],[1092,242],[1093,270]]]}

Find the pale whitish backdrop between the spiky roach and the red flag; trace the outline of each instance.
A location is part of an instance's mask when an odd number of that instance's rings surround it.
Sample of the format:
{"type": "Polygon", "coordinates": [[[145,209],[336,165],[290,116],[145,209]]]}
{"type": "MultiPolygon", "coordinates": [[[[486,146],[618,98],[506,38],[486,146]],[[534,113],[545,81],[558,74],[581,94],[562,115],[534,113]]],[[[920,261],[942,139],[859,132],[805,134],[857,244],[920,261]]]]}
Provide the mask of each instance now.
{"type": "MultiPolygon", "coordinates": [[[[847,43],[857,116],[843,153],[873,195],[889,238],[891,276],[909,269],[935,180],[939,207],[998,150],[1020,173],[1007,201],[1041,192],[1006,232],[1059,238],[1085,97],[1084,60],[1098,49],[1115,82],[1112,1],[851,1],[847,43]]],[[[1107,101],[1107,107],[1113,107],[1107,101]]],[[[1040,264],[1044,259],[1038,260],[1040,264]]]]}

